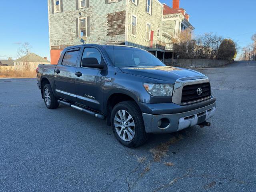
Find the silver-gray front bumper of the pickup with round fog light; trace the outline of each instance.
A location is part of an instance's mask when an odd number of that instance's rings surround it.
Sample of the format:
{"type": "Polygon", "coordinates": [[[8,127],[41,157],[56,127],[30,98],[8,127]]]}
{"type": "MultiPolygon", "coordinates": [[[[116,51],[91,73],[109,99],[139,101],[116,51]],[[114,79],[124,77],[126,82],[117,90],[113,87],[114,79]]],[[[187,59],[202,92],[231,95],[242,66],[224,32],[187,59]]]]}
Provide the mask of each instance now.
{"type": "Polygon", "coordinates": [[[154,115],[142,113],[145,130],[147,133],[172,133],[198,125],[214,116],[216,111],[215,106],[216,103],[214,102],[202,108],[175,114],[154,115]],[[158,121],[162,119],[167,122],[169,121],[170,123],[160,126],[162,127],[160,128],[158,126],[158,121]]]}

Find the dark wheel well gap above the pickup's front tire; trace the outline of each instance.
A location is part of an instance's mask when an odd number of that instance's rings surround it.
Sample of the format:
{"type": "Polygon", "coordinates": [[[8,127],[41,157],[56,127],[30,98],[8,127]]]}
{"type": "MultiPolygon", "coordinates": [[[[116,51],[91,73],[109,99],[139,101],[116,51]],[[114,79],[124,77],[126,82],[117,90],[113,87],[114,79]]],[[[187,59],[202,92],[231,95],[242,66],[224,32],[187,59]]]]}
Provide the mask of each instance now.
{"type": "Polygon", "coordinates": [[[108,126],[111,125],[110,116],[111,116],[112,109],[114,108],[114,106],[116,104],[118,104],[122,101],[134,101],[134,99],[126,94],[121,94],[121,93],[112,94],[108,98],[107,108],[106,108],[106,119],[107,119],[108,126]]]}

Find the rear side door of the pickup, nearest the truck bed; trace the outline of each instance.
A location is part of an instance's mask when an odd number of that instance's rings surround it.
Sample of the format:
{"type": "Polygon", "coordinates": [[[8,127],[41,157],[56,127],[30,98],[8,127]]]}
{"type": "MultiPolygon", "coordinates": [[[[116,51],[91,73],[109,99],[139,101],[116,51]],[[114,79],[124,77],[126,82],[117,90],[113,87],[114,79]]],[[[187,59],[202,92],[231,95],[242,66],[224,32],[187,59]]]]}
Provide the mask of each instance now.
{"type": "Polygon", "coordinates": [[[54,71],[54,82],[58,96],[75,101],[75,72],[80,48],[66,50],[54,71]]]}

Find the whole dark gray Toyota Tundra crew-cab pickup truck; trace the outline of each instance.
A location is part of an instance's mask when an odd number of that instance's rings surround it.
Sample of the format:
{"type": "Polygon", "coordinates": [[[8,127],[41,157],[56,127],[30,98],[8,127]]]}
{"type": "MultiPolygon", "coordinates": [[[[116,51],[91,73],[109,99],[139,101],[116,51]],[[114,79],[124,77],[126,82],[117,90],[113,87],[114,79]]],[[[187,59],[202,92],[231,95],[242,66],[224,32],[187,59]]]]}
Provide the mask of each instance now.
{"type": "Polygon", "coordinates": [[[71,46],[57,65],[39,65],[36,72],[47,108],[64,104],[106,119],[130,148],[144,144],[150,133],[210,126],[206,120],[216,110],[206,76],[165,66],[135,47],[71,46]]]}

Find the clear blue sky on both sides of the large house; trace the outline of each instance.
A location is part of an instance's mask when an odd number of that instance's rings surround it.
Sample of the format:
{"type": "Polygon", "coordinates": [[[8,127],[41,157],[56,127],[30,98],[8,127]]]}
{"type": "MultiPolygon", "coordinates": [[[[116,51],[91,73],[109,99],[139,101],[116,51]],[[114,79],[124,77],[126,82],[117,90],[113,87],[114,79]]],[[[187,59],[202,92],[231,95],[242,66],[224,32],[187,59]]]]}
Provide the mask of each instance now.
{"type": "MultiPolygon", "coordinates": [[[[160,0],[172,6],[172,0],[160,0]]],[[[50,59],[47,0],[1,1],[0,59],[16,58],[23,42],[50,59]],[[10,5],[12,4],[12,5],[10,5]]],[[[256,33],[256,0],[180,0],[190,14],[194,34],[213,32],[234,39],[240,47],[256,33]]]]}

